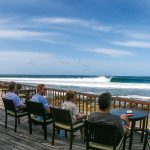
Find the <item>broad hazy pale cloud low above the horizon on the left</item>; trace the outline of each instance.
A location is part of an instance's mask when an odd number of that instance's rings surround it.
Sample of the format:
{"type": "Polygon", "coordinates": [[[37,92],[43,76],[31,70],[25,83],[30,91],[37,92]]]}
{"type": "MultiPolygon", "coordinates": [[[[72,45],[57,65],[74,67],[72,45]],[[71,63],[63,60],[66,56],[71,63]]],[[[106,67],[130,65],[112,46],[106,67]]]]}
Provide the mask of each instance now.
{"type": "MultiPolygon", "coordinates": [[[[9,73],[13,71],[17,73],[21,69],[22,72],[30,70],[30,73],[36,73],[38,71],[41,74],[43,73],[41,70],[44,68],[46,72],[55,72],[56,70],[56,72],[59,72],[59,70],[62,70],[64,73],[65,69],[74,70],[74,67],[84,69],[93,63],[93,60],[87,62],[86,59],[79,60],[78,58],[60,56],[47,52],[0,50],[0,56],[0,64],[5,66],[0,72],[4,70],[4,72],[9,73]]],[[[28,72],[25,73],[28,74],[28,72]]]]}

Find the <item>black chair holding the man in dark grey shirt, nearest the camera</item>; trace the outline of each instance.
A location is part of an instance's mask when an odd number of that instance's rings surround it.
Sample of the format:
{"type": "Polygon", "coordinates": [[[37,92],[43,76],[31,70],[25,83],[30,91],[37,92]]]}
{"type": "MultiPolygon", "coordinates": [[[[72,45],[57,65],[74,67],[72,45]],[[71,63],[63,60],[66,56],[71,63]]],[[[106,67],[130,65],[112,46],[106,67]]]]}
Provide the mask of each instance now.
{"type": "Polygon", "coordinates": [[[86,149],[118,150],[126,139],[119,136],[117,127],[112,123],[85,122],[86,149]]]}

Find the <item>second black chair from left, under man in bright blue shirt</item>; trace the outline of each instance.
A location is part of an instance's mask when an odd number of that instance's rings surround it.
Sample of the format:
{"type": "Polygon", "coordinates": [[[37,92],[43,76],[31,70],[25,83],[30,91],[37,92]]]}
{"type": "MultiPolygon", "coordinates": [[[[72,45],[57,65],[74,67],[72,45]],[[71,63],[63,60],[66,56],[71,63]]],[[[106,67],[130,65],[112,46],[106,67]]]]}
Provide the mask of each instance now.
{"type": "Polygon", "coordinates": [[[45,112],[42,103],[26,101],[28,119],[29,119],[29,133],[32,134],[32,123],[34,125],[41,125],[44,129],[44,139],[47,139],[47,125],[53,122],[52,115],[45,112]],[[36,116],[41,116],[43,119],[39,120],[36,116]]]}

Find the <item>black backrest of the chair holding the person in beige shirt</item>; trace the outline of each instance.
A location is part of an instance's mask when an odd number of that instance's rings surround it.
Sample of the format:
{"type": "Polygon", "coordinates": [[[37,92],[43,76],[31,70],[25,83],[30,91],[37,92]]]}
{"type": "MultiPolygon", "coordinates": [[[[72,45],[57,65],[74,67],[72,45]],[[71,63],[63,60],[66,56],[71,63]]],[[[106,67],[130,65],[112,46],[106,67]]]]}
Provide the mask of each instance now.
{"type": "Polygon", "coordinates": [[[72,118],[70,110],[61,108],[51,108],[53,119],[55,122],[72,125],[72,118]]]}

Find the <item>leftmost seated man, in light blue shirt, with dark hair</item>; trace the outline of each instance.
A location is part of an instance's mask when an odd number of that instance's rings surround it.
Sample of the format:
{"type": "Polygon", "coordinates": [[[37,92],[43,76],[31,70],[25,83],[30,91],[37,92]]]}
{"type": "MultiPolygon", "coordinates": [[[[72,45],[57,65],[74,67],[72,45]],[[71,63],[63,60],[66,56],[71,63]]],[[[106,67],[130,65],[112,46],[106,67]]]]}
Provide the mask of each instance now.
{"type": "Polygon", "coordinates": [[[25,109],[26,105],[23,104],[20,97],[16,94],[17,84],[15,82],[10,82],[8,88],[9,92],[4,95],[4,98],[12,100],[14,102],[16,110],[25,109]]]}

